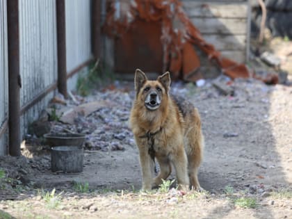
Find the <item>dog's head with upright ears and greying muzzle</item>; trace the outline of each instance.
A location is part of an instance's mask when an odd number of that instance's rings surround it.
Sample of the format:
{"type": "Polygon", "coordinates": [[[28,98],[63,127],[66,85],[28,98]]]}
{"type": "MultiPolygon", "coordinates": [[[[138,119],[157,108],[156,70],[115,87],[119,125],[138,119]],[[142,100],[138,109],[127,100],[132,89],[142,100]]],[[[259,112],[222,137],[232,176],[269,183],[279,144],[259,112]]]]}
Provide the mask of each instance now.
{"type": "Polygon", "coordinates": [[[158,109],[162,102],[168,98],[170,89],[170,72],[165,72],[156,81],[150,81],[141,70],[137,69],[135,74],[136,99],[144,102],[149,111],[158,109]]]}

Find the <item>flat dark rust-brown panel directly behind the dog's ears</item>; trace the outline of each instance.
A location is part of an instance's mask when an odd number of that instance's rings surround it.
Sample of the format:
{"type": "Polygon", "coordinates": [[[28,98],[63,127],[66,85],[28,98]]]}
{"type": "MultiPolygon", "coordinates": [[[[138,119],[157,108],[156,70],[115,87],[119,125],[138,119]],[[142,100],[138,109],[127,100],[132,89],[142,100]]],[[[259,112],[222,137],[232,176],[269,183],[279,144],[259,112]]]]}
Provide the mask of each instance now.
{"type": "Polygon", "coordinates": [[[134,66],[145,72],[162,72],[161,22],[136,19],[129,31],[116,38],[115,72],[134,72],[134,66]]]}

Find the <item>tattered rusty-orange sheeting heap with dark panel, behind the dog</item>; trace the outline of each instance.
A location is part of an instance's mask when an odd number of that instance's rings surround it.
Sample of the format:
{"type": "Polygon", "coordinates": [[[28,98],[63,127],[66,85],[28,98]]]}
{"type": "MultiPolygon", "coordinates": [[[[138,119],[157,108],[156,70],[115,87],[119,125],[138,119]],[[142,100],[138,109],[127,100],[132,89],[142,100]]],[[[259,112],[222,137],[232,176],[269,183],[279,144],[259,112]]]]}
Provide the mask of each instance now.
{"type": "MultiPolygon", "coordinates": [[[[115,40],[115,65],[120,72],[137,67],[161,72],[162,66],[162,72],[170,70],[172,79],[197,81],[202,74],[196,45],[232,79],[254,76],[244,64],[223,57],[202,38],[179,0],[108,1],[104,31],[120,36],[115,40]]],[[[277,75],[261,80],[276,83],[277,75]]]]}

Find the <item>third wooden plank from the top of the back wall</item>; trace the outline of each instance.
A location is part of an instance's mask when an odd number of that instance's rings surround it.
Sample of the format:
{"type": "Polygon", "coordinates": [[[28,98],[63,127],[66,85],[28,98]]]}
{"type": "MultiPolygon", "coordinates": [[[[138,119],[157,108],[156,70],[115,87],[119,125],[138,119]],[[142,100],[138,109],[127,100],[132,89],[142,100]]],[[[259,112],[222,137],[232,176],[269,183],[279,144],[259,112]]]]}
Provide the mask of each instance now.
{"type": "Polygon", "coordinates": [[[203,38],[217,50],[245,50],[246,47],[246,35],[203,34],[203,38]]]}

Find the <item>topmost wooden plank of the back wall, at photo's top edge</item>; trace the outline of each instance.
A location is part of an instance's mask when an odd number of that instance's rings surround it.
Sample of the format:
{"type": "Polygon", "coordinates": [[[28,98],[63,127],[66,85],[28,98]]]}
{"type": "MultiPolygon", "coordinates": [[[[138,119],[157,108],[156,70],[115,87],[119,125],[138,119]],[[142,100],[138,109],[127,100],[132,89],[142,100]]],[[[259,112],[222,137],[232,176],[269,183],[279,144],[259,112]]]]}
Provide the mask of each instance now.
{"type": "Polygon", "coordinates": [[[184,1],[184,9],[189,17],[246,18],[248,15],[248,3],[245,1],[184,1]]]}

